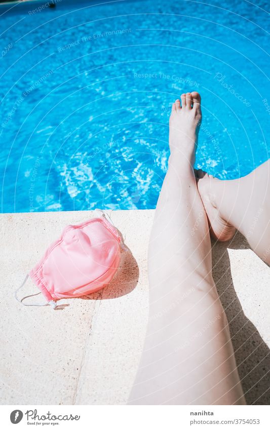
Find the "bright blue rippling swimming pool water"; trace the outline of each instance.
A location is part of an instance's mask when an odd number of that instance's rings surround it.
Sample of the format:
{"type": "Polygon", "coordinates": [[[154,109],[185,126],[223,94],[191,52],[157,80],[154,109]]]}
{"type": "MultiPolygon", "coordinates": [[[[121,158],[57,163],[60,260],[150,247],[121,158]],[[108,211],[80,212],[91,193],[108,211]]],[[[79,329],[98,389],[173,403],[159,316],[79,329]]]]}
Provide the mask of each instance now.
{"type": "Polygon", "coordinates": [[[155,208],[184,91],[202,95],[198,167],[269,158],[268,2],[56,3],[0,9],[2,212],[155,208]]]}

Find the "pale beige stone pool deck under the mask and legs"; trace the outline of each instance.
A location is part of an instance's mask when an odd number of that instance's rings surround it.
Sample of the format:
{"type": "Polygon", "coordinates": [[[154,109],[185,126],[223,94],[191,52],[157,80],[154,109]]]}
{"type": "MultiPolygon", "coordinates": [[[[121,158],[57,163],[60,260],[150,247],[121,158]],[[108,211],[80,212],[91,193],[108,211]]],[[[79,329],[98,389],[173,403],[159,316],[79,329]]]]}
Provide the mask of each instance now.
{"type": "MultiPolygon", "coordinates": [[[[154,213],[111,212],[132,254],[122,253],[112,285],[84,299],[63,299],[69,306],[58,311],[23,306],[14,290],[65,225],[96,212],[1,215],[2,404],[126,403],[147,324],[146,256],[154,213]]],[[[270,268],[237,233],[232,242],[213,246],[213,275],[247,403],[269,404],[270,268]]],[[[35,292],[28,281],[18,295],[35,292]]]]}

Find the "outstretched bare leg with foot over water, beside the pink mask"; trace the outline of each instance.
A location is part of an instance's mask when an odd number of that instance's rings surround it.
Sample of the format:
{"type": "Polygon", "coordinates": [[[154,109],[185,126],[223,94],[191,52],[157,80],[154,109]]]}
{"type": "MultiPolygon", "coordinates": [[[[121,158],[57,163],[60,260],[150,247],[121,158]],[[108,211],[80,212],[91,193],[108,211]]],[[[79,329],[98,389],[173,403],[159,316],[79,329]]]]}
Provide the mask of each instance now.
{"type": "Polygon", "coordinates": [[[169,168],[149,243],[149,323],[129,404],[245,404],[194,175],[200,95],[181,101],[170,118],[169,168]]]}

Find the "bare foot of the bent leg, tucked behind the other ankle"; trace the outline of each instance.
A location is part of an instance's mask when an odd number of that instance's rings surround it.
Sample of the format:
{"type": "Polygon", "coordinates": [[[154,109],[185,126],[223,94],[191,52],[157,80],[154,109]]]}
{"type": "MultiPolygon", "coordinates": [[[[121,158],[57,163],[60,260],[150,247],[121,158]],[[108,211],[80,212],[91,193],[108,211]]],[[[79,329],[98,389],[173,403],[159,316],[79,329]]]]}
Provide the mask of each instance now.
{"type": "Polygon", "coordinates": [[[233,238],[236,229],[221,217],[216,205],[216,186],[220,188],[222,181],[208,175],[203,170],[195,170],[195,176],[207,214],[211,237],[221,242],[229,241],[233,238]]]}

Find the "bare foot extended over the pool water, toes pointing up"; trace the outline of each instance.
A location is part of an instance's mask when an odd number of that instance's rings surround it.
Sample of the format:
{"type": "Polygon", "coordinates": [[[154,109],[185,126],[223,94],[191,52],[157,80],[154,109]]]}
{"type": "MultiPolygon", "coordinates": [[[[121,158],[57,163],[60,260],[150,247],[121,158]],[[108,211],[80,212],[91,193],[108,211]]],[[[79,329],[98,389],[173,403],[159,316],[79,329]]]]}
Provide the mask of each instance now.
{"type": "Polygon", "coordinates": [[[171,157],[178,161],[195,163],[198,134],[202,121],[201,96],[193,91],[181,95],[172,105],[169,144],[171,157]]]}

